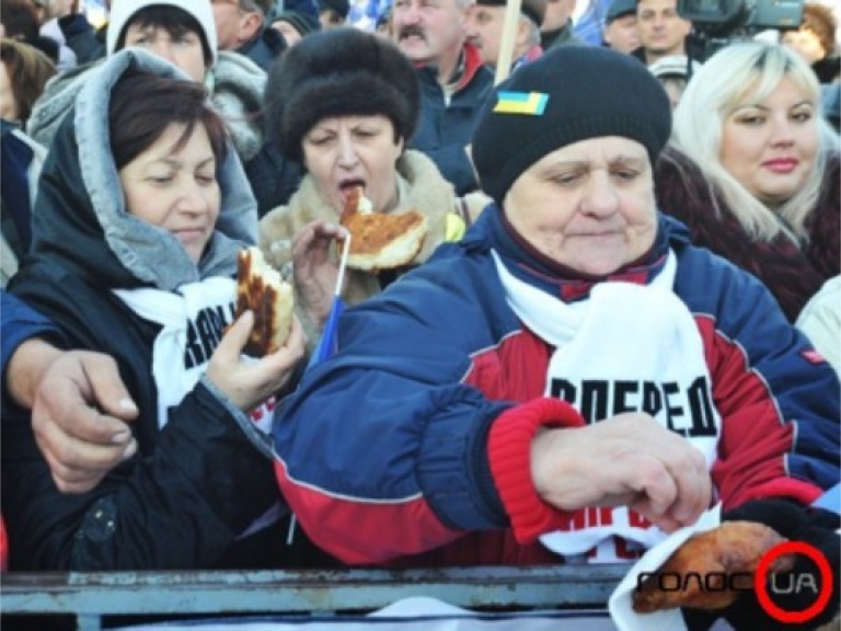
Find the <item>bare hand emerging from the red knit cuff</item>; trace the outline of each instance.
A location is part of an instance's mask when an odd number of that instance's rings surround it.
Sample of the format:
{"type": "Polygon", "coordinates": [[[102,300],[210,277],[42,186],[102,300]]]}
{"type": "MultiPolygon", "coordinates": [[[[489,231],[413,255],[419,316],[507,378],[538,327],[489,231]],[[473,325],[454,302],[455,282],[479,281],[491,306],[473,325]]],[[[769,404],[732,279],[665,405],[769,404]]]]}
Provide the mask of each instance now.
{"type": "Polygon", "coordinates": [[[544,429],[532,441],[531,463],[538,494],[564,510],[627,506],[671,532],[710,506],[703,455],[640,412],[544,429]]]}

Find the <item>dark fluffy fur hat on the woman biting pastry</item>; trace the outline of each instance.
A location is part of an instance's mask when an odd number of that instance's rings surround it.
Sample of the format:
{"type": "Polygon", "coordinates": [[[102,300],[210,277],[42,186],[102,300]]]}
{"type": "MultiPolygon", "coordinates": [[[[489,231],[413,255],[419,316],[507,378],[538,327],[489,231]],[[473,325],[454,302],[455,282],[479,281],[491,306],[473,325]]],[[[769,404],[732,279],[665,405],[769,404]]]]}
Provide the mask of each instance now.
{"type": "Polygon", "coordinates": [[[330,116],[382,114],[408,142],[420,87],[394,44],[345,27],[312,33],[286,50],[269,70],[265,102],[267,135],[301,161],[303,136],[330,116]]]}

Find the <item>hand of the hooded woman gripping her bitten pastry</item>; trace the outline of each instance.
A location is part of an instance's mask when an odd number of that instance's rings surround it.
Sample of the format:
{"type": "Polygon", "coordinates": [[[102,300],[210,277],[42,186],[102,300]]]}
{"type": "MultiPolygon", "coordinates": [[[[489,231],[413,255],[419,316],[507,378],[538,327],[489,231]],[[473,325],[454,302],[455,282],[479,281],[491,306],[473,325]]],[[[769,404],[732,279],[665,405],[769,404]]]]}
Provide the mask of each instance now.
{"type": "Polygon", "coordinates": [[[250,412],[287,383],[307,345],[301,323],[293,317],[289,337],[276,353],[244,362],[241,354],[253,326],[254,313],[245,311],[227,331],[207,367],[208,379],[243,412],[250,412]]]}

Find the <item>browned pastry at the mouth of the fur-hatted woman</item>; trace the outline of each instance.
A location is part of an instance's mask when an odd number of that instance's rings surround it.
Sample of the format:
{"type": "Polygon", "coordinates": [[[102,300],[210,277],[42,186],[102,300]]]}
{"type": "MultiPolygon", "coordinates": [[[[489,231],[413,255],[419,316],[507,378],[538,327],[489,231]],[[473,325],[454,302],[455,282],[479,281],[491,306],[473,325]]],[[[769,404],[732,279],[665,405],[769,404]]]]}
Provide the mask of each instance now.
{"type": "Polygon", "coordinates": [[[356,269],[390,269],[407,265],[424,244],[428,221],[417,210],[371,213],[366,208],[364,190],[347,192],[339,223],[353,236],[347,266],[356,269]]]}

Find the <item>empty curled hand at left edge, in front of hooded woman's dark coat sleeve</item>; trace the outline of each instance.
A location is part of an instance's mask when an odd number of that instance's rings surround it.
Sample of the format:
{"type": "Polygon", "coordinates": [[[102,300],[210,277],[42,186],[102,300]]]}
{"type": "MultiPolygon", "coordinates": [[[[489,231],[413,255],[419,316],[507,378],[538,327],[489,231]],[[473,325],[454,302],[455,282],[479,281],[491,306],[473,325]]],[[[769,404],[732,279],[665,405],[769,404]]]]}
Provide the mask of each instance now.
{"type": "Polygon", "coordinates": [[[64,493],[85,493],[134,456],[128,422],[138,415],[114,359],[61,353],[43,374],[32,402],[35,440],[64,493]]]}

